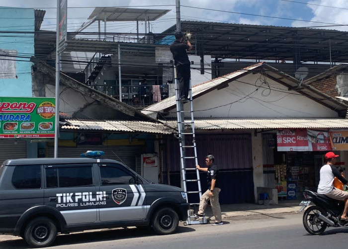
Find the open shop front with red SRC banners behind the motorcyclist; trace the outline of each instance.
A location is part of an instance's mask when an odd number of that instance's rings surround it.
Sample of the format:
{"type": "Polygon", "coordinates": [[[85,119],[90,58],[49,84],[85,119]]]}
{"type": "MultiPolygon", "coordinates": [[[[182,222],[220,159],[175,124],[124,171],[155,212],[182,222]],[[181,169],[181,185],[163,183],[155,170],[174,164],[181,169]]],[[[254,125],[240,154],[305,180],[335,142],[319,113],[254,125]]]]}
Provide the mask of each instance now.
{"type": "Polygon", "coordinates": [[[277,129],[262,134],[264,185],[276,188],[279,199],[302,198],[317,191],[324,154],[335,151],[337,166],[345,168],[348,131],[334,129],[277,129]]]}

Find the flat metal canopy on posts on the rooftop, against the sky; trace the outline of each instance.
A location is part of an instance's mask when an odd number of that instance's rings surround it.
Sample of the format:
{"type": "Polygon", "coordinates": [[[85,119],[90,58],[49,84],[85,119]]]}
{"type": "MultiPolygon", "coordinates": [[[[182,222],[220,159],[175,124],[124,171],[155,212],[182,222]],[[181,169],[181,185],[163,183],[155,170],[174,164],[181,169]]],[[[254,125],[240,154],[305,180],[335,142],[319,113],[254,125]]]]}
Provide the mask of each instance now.
{"type": "Polygon", "coordinates": [[[104,21],[154,21],[171,9],[95,7],[87,19],[104,21]]]}

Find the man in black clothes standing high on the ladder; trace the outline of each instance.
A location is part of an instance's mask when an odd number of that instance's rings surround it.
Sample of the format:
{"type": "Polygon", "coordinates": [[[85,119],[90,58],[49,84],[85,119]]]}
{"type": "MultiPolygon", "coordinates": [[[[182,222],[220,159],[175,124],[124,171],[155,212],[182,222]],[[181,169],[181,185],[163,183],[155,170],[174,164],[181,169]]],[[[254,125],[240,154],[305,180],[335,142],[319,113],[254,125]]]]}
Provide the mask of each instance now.
{"type": "Polygon", "coordinates": [[[171,52],[176,67],[176,78],[178,80],[179,101],[188,100],[188,91],[190,86],[190,61],[186,50],[192,49],[191,43],[182,32],[175,33],[175,41],[171,45],[171,52]]]}

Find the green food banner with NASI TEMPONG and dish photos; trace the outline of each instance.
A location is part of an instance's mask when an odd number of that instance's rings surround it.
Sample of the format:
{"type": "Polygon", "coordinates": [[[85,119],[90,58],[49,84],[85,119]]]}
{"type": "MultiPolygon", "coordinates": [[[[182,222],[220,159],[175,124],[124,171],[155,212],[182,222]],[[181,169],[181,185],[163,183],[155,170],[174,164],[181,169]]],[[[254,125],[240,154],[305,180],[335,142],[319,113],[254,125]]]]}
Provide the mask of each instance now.
{"type": "Polygon", "coordinates": [[[54,98],[0,97],[0,138],[54,137],[54,98]]]}

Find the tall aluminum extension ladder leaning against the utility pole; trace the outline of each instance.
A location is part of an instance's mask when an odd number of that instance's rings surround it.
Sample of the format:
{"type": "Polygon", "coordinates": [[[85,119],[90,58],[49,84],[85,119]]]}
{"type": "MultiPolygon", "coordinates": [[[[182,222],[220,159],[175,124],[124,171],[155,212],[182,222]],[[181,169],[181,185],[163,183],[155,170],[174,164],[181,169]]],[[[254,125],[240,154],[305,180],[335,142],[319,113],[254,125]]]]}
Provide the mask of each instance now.
{"type": "MultiPolygon", "coordinates": [[[[176,97],[176,114],[177,114],[177,127],[178,127],[178,139],[180,146],[180,166],[181,166],[181,183],[183,190],[185,192],[186,201],[190,205],[189,210],[187,211],[187,221],[184,221],[184,225],[192,224],[206,224],[208,221],[205,218],[205,215],[202,217],[196,217],[194,215],[192,206],[199,205],[199,200],[202,196],[202,190],[199,179],[199,171],[195,165],[198,164],[197,159],[197,149],[196,141],[194,134],[194,120],[193,120],[193,105],[192,105],[192,87],[191,79],[189,85],[189,111],[184,111],[184,101],[179,101],[179,89],[176,79],[176,68],[174,67],[174,83],[175,83],[175,97],[176,97]],[[190,119],[185,121],[185,114],[189,114],[190,119]],[[186,130],[185,130],[186,129],[186,130]],[[185,136],[188,136],[190,139],[185,139],[185,136]],[[191,139],[192,138],[192,139],[191,139]],[[185,141],[188,144],[185,144],[185,141]],[[193,150],[193,151],[192,151],[193,150]],[[190,154],[190,155],[189,155],[190,154]],[[186,167],[186,162],[190,161],[189,165],[192,165],[192,160],[194,159],[194,165],[190,168],[186,167]],[[195,173],[195,174],[194,174],[195,173]],[[193,188],[193,191],[187,190],[187,185],[193,188]],[[194,186],[196,185],[196,186],[194,186]],[[194,203],[190,200],[197,200],[198,202],[194,203]]],[[[186,137],[187,138],[187,137],[186,137]]]]}

